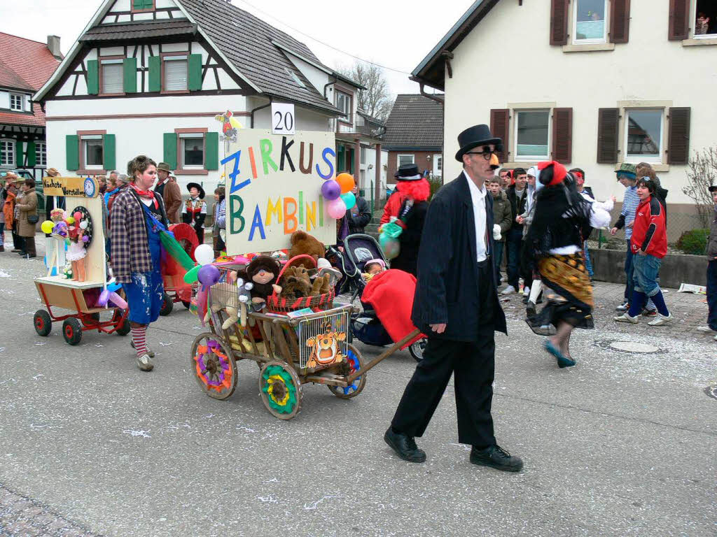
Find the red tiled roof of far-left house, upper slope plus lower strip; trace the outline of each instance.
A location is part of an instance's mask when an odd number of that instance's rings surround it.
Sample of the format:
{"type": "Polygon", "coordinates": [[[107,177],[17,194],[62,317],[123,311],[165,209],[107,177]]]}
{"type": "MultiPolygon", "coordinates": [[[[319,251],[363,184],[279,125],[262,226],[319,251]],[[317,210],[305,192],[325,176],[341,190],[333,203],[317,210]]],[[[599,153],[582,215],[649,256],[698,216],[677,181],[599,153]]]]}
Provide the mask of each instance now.
{"type": "MultiPolygon", "coordinates": [[[[52,56],[47,44],[0,32],[0,86],[37,92],[52,76],[60,60],[52,56]]],[[[0,112],[3,125],[44,127],[44,112],[37,102],[33,114],[0,112]]]]}

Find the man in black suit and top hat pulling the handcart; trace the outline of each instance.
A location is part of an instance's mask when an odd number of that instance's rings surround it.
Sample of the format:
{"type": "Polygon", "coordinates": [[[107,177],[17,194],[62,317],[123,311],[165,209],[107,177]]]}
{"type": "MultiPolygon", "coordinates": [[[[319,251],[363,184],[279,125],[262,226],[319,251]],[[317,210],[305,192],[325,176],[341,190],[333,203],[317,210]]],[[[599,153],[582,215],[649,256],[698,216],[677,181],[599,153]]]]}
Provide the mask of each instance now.
{"type": "Polygon", "coordinates": [[[502,140],[487,125],[458,135],[456,160],[463,172],[433,197],[419,248],[412,320],[428,335],[384,440],[400,458],[422,463],[422,436],[455,373],[458,441],[470,444],[470,462],[517,472],[523,461],[500,448],[493,436],[493,332],[506,332],[495,290],[493,200],[485,181],[493,178],[491,156],[502,140]]]}

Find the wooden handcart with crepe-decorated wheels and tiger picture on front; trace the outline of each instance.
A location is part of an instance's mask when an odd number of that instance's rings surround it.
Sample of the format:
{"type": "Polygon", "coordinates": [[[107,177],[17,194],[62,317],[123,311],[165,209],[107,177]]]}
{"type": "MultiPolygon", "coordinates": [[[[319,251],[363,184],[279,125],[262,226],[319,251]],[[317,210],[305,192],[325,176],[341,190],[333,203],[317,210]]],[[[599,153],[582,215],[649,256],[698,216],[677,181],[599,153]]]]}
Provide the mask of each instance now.
{"type": "Polygon", "coordinates": [[[237,387],[237,362],[252,360],[260,369],[262,402],[275,417],[290,420],[301,409],[303,384],[325,384],[341,399],[356,397],[369,369],[419,335],[416,330],[365,364],[351,344],[354,307],[332,306],[333,292],[297,301],[285,306],[287,311],[250,312],[246,327],[234,323],[227,329],[222,329],[226,312],[212,314],[210,332],[199,334],[191,346],[191,371],[199,387],[209,397],[227,399],[237,387]],[[286,314],[306,306],[315,311],[286,314]]]}

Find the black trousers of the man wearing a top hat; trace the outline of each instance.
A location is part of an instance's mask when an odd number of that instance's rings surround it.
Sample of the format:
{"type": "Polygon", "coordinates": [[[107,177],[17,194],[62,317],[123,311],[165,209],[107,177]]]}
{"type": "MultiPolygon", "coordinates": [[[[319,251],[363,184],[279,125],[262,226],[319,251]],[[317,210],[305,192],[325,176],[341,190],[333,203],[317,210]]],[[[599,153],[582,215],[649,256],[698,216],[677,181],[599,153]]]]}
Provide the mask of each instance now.
{"type": "MultiPolygon", "coordinates": [[[[485,262],[484,262],[485,263],[485,262]]],[[[481,324],[475,342],[456,342],[428,334],[423,359],[416,366],[399,402],[391,427],[409,436],[423,436],[451,374],[455,384],[458,414],[458,442],[487,448],[495,444],[493,417],[493,377],[495,337],[490,283],[492,263],[480,269],[481,324]],[[489,306],[490,304],[490,306],[489,306]],[[488,306],[488,307],[485,307],[488,306]]]]}

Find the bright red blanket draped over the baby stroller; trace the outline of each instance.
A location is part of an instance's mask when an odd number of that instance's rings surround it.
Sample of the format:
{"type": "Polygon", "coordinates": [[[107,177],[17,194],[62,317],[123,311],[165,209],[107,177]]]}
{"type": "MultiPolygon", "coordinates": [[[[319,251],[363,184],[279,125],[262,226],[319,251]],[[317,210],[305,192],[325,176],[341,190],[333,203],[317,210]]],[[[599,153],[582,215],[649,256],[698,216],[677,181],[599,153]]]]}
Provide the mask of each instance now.
{"type": "MultiPolygon", "coordinates": [[[[416,278],[412,274],[389,270],[371,278],[361,300],[374,306],[386,332],[394,342],[399,342],[416,329],[411,321],[415,292],[416,278]]],[[[407,348],[422,337],[420,334],[401,348],[407,348]]]]}

